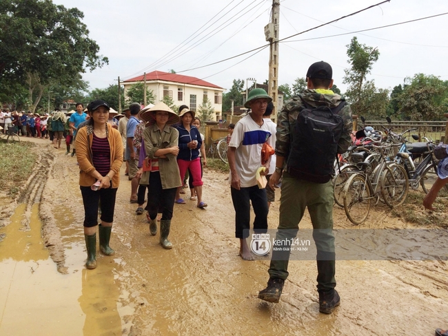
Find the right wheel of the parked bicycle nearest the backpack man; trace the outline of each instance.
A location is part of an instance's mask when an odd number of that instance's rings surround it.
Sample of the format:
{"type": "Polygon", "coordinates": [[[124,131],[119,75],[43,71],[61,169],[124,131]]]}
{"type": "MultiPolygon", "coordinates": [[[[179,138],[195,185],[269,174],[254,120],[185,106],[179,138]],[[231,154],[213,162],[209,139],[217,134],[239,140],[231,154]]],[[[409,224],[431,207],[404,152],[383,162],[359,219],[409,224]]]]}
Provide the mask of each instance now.
{"type": "Polygon", "coordinates": [[[389,207],[403,204],[409,191],[406,169],[396,163],[386,167],[381,175],[380,189],[383,200],[389,207]]]}

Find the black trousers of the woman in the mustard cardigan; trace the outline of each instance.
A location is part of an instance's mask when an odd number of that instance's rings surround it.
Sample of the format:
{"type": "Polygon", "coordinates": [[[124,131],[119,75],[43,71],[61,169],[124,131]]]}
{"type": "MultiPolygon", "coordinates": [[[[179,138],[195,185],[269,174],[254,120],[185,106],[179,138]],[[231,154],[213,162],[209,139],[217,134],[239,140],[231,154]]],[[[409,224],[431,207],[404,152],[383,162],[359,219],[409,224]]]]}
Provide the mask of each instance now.
{"type": "Polygon", "coordinates": [[[114,221],[115,198],[117,188],[93,191],[90,187],[80,187],[84,204],[84,227],[98,225],[98,204],[101,200],[101,220],[106,223],[114,221]]]}

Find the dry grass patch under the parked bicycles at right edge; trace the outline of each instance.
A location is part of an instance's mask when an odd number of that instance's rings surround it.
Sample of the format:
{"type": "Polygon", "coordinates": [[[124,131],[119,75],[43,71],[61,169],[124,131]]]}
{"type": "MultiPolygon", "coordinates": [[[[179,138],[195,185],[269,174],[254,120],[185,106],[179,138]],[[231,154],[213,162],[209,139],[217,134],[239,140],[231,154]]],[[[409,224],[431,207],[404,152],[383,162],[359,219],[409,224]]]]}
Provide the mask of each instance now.
{"type": "Polygon", "coordinates": [[[391,215],[402,218],[406,222],[413,222],[426,227],[429,225],[437,225],[438,227],[448,227],[448,199],[436,198],[433,207],[436,211],[427,211],[423,207],[423,198],[426,193],[423,191],[409,190],[405,203],[400,207],[394,207],[391,215]]]}

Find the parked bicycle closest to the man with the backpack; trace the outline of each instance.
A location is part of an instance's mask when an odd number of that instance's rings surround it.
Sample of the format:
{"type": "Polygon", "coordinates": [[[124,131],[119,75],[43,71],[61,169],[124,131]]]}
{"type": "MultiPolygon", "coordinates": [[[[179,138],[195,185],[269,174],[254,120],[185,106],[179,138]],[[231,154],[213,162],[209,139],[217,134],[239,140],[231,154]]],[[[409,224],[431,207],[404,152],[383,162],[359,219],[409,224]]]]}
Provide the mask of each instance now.
{"type": "MultiPolygon", "coordinates": [[[[376,141],[379,143],[379,141],[376,141]]],[[[352,174],[343,190],[344,209],[353,224],[362,224],[369,216],[371,201],[382,198],[389,207],[403,204],[409,191],[409,180],[402,165],[388,161],[391,145],[374,145],[380,163],[371,169],[370,162],[358,162],[359,171],[352,174]]]]}

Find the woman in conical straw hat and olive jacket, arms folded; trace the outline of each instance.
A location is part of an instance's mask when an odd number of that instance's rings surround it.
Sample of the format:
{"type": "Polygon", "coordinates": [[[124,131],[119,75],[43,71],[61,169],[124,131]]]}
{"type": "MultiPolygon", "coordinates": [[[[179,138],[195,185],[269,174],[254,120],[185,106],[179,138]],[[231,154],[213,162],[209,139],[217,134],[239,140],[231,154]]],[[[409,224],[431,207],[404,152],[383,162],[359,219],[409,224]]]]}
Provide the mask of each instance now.
{"type": "Polygon", "coordinates": [[[142,180],[147,181],[146,210],[150,216],[150,233],[157,233],[157,211],[160,209],[160,243],[164,249],[172,249],[168,240],[174,209],[176,190],[182,185],[176,157],[179,154],[179,132],[170,125],[179,123],[179,116],[165,103],[143,109],[140,118],[150,126],[143,131],[146,159],[142,180]]]}

